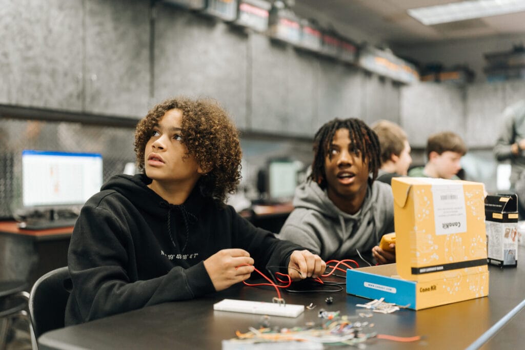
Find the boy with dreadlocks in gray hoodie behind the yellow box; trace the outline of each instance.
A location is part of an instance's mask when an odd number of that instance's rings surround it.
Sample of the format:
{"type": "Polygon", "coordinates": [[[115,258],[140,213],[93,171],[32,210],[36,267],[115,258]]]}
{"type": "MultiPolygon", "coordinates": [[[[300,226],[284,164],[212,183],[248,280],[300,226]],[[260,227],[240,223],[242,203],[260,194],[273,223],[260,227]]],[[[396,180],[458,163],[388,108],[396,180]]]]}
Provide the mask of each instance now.
{"type": "Polygon", "coordinates": [[[394,230],[392,188],[374,182],[381,164],[377,135],[359,119],[334,119],[316,133],[313,151],[312,172],[297,187],[279,237],[324,260],[368,261],[373,254],[378,263],[395,261],[377,246],[394,230]]]}

